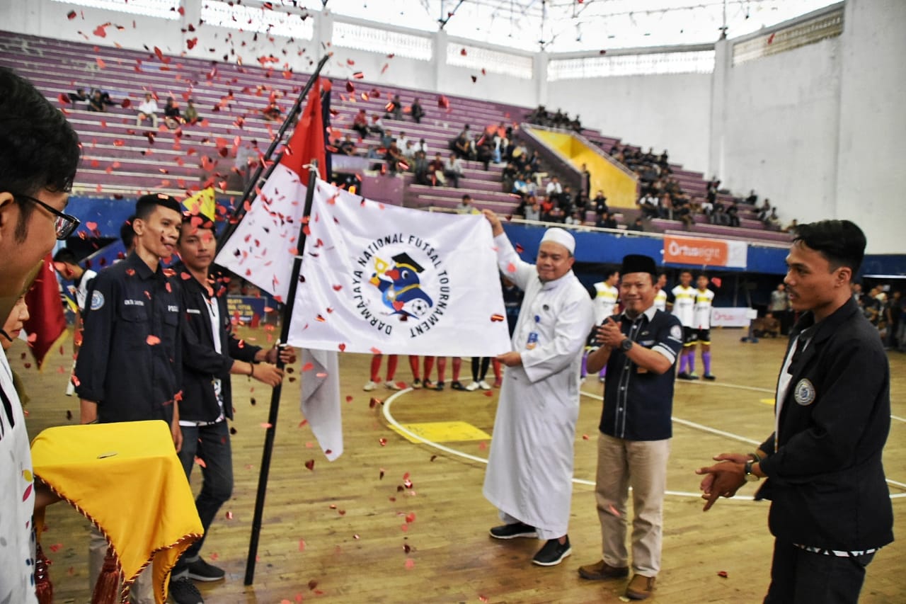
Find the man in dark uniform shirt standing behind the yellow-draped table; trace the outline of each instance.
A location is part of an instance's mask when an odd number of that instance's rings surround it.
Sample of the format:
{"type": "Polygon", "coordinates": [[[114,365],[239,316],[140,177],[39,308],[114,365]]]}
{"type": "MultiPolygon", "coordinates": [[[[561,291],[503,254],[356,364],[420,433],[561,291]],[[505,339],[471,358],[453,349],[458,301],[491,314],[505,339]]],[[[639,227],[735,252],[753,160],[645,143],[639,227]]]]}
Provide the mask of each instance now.
{"type": "MultiPolygon", "coordinates": [[[[75,392],[82,424],[162,420],[182,444],[178,401],[182,390],[183,308],[179,278],[161,266],[176,250],[182,214],[168,195],[144,195],[135,204],[135,251],[92,281],[75,392]]],[[[101,572],[107,542],[92,530],[89,581],[101,572]]],[[[150,568],[150,567],[149,567],[150,568]]],[[[133,599],[153,602],[143,572],[133,599]]]]}

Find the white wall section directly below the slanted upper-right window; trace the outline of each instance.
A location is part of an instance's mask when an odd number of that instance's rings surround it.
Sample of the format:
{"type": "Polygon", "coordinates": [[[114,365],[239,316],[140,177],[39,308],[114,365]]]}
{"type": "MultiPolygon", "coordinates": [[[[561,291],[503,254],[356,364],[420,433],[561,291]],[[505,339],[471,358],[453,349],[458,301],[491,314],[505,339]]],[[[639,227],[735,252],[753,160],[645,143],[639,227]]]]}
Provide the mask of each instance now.
{"type": "Polygon", "coordinates": [[[840,44],[728,69],[719,176],[731,190],[770,198],[785,221],[834,218],[840,44]]]}

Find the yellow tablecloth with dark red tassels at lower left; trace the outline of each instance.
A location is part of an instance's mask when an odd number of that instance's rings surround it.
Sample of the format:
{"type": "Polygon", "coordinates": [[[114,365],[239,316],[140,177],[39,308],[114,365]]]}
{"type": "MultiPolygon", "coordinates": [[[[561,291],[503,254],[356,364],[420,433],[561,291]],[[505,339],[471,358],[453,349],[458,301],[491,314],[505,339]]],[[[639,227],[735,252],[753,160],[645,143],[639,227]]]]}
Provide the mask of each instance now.
{"type": "MultiPolygon", "coordinates": [[[[126,584],[154,563],[154,597],[203,529],[165,422],[66,425],[32,441],[34,473],[107,536],[126,584]]],[[[36,519],[40,520],[40,519],[36,519]]]]}

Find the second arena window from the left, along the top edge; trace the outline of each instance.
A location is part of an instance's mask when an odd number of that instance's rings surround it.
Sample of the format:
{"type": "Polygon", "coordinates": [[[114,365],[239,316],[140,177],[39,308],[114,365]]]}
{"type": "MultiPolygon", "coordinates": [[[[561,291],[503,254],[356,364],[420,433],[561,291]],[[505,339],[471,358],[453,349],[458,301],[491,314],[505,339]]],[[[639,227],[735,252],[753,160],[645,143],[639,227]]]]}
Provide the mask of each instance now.
{"type": "Polygon", "coordinates": [[[284,35],[296,40],[311,40],[313,19],[308,13],[284,13],[261,6],[206,0],[201,5],[201,20],[207,24],[241,29],[246,32],[284,35]]]}

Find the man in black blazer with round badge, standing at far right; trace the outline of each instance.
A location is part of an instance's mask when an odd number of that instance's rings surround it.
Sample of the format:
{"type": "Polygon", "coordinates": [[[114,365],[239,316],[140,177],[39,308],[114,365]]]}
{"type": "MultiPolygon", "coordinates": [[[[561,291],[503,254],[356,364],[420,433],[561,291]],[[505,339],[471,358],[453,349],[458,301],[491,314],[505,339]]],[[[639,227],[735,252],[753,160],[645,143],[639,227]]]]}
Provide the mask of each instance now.
{"type": "Polygon", "coordinates": [[[775,432],[756,452],[699,469],[705,510],[766,478],[775,536],[765,602],[859,599],[865,567],[893,541],[882,451],[891,427],[890,367],[850,282],[865,236],[848,220],[796,230],[786,257],[790,306],[804,312],[777,380],[775,432]],[[806,312],[807,311],[807,312],[806,312]]]}

